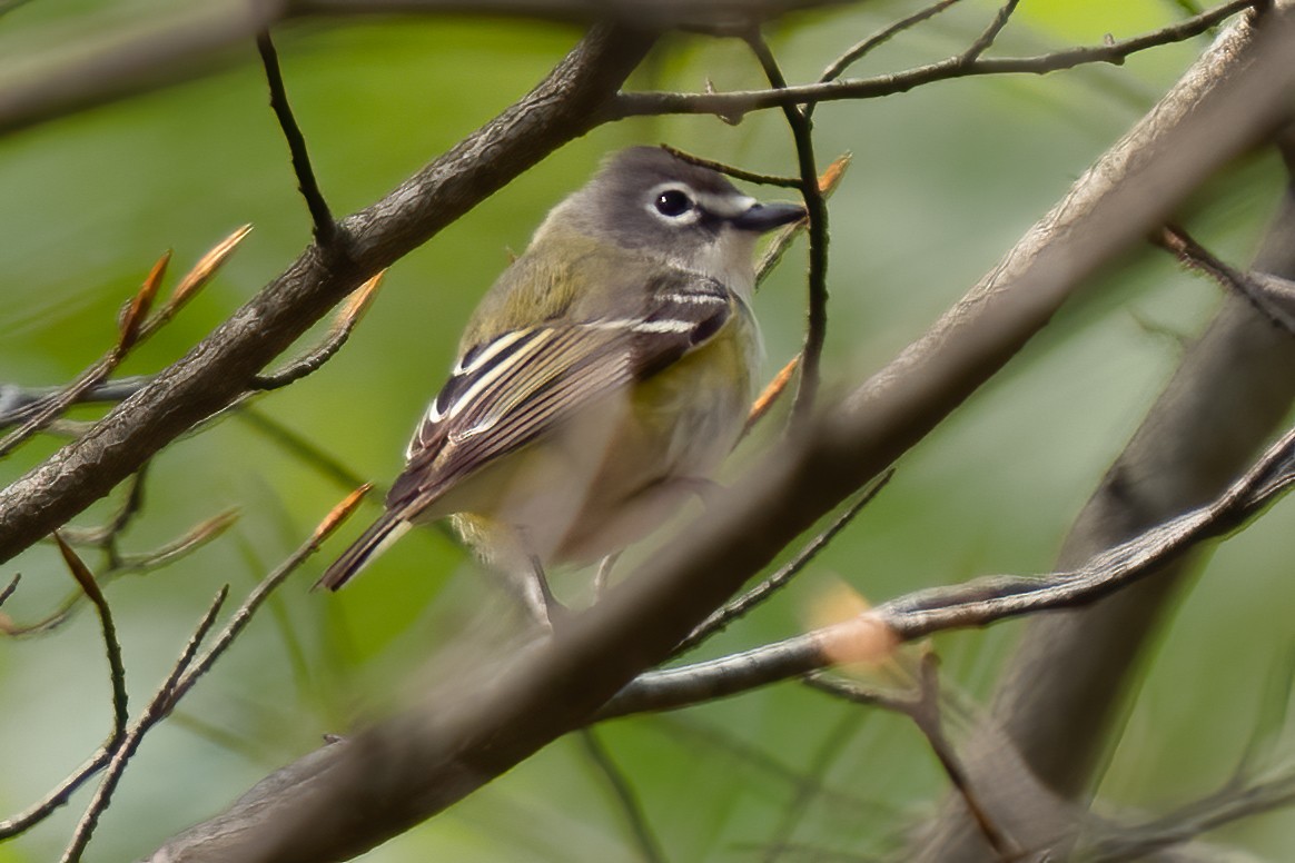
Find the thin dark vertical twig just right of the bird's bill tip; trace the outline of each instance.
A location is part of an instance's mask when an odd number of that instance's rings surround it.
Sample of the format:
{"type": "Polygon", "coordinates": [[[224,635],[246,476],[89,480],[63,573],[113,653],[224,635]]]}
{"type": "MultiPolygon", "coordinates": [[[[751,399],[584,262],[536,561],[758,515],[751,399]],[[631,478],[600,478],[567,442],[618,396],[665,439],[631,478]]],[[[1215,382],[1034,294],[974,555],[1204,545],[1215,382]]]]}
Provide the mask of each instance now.
{"type": "MultiPolygon", "coordinates": [[[[769,85],[785,89],[787,80],[759,31],[752,31],[747,36],[747,44],[760,61],[769,85]]],[[[791,408],[793,423],[803,426],[813,411],[815,397],[818,393],[822,345],[828,335],[828,202],[818,189],[818,168],[813,154],[813,120],[800,107],[790,104],[782,106],[782,114],[787,119],[787,127],[796,145],[800,194],[809,213],[809,312],[805,343],[800,351],[800,387],[791,408]]]]}

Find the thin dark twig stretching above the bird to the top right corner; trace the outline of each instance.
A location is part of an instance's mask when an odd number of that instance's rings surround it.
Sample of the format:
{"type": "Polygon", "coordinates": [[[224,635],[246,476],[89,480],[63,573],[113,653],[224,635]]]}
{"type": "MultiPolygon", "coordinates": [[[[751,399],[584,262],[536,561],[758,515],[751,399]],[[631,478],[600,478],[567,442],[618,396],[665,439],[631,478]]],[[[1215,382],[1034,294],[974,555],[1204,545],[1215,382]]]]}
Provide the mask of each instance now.
{"type": "Polygon", "coordinates": [[[962,63],[961,57],[953,56],[901,72],[888,72],[860,79],[838,79],[781,89],[730,91],[726,93],[672,93],[660,91],[622,93],[607,106],[606,119],[659,114],[741,116],[747,111],[781,107],[783,105],[879,98],[882,96],[905,93],[934,82],[978,75],[1045,75],[1089,63],[1119,65],[1138,52],[1199,36],[1220,22],[1239,12],[1257,6],[1263,1],[1229,0],[1229,3],[1221,4],[1199,16],[1138,36],[1032,57],[978,57],[973,63],[962,63]]]}

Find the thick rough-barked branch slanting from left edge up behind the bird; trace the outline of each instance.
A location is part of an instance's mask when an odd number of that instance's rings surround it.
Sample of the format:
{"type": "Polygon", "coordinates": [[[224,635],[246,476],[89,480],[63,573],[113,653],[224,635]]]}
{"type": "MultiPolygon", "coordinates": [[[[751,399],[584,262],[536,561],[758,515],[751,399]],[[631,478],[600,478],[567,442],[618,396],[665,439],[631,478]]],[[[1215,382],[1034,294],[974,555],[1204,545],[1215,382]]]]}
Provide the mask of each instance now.
{"type": "Polygon", "coordinates": [[[242,396],[268,362],[363,281],[584,133],[651,41],[640,31],[594,28],[531,93],[343,220],[339,247],[346,255],[307,248],[185,358],[0,492],[0,560],[48,536],[162,446],[242,396]]]}

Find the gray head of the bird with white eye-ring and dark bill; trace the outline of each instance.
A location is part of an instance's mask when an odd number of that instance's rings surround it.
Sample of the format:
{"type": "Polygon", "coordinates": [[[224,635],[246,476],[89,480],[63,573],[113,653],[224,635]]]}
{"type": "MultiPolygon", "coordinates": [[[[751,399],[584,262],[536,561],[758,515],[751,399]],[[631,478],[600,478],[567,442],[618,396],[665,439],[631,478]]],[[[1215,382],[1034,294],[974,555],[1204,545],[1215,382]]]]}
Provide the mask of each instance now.
{"type": "Polygon", "coordinates": [[[561,226],[742,289],[755,238],[802,217],[803,207],[761,204],[716,171],[636,146],[611,155],[540,234],[561,226]]]}

